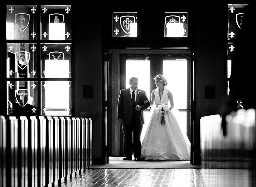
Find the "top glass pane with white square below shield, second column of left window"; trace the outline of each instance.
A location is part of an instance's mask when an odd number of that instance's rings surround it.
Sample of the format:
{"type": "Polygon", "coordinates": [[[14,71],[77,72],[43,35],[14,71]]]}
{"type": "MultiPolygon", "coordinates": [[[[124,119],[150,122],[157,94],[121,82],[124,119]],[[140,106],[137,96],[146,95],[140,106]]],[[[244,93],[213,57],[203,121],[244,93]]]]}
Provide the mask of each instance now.
{"type": "Polygon", "coordinates": [[[71,40],[71,5],[41,5],[41,39],[71,40]]]}

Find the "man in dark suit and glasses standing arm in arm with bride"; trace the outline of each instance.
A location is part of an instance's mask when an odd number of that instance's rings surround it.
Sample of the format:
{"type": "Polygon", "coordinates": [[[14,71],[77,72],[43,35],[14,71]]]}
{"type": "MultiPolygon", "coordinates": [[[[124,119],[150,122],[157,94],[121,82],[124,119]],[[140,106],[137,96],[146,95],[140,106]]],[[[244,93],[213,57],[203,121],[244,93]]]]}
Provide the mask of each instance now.
{"type": "Polygon", "coordinates": [[[118,97],[118,122],[123,128],[123,160],[132,160],[132,151],[135,160],[141,160],[140,135],[144,124],[143,111],[150,106],[150,102],[146,91],[138,89],[138,83],[137,77],[131,77],[130,87],[121,89],[118,97]]]}

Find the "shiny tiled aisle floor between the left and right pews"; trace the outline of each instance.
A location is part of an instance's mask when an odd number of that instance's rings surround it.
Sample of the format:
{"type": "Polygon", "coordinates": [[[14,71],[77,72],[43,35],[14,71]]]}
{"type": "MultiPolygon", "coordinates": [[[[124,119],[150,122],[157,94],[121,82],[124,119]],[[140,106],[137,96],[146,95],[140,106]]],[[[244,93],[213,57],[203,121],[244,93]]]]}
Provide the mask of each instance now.
{"type": "Polygon", "coordinates": [[[200,169],[91,169],[60,187],[204,187],[200,169]]]}

